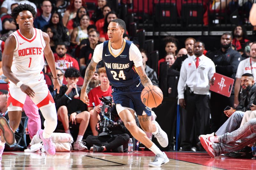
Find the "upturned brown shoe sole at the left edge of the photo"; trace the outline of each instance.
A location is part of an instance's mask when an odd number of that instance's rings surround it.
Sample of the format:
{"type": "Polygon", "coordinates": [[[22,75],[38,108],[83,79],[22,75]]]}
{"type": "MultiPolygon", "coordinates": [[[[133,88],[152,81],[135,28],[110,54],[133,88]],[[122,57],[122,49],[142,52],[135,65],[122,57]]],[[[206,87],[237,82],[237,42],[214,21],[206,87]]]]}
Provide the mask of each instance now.
{"type": "Polygon", "coordinates": [[[0,117],[0,129],[3,131],[4,140],[7,144],[14,144],[15,137],[8,121],[4,117],[0,117]]]}

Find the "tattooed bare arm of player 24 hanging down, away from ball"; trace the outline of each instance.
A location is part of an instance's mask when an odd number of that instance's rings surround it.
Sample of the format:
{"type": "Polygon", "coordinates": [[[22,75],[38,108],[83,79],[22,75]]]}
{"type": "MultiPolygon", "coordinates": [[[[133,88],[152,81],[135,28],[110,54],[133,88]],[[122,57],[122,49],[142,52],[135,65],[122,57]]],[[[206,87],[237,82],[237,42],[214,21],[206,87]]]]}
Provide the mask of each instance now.
{"type": "Polygon", "coordinates": [[[93,61],[93,58],[92,58],[91,62],[89,63],[89,65],[88,65],[88,67],[85,71],[84,84],[83,84],[82,89],[81,89],[80,100],[82,100],[87,105],[89,105],[89,99],[88,99],[88,95],[86,93],[86,89],[87,89],[87,86],[88,86],[88,84],[90,83],[90,81],[92,79],[92,76],[95,72],[97,64],[98,63],[95,63],[93,61]]]}

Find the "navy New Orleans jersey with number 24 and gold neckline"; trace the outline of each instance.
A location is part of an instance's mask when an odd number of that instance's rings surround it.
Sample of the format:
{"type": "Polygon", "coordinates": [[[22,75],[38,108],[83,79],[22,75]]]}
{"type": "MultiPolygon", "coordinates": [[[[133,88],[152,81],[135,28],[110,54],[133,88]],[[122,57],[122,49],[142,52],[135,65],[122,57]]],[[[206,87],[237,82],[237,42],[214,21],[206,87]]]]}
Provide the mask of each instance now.
{"type": "Polygon", "coordinates": [[[105,64],[108,80],[114,87],[129,86],[140,80],[133,61],[129,59],[131,44],[132,41],[124,41],[123,48],[118,55],[111,52],[110,41],[105,41],[103,44],[102,60],[105,64]]]}

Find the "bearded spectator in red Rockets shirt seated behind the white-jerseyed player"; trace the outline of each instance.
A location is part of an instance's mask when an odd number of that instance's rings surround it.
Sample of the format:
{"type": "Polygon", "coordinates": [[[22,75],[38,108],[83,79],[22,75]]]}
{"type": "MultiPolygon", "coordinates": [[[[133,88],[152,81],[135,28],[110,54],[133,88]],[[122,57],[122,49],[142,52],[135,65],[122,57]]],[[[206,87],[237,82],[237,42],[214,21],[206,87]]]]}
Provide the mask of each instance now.
{"type": "MultiPolygon", "coordinates": [[[[56,47],[56,53],[54,53],[56,68],[60,69],[63,73],[65,73],[65,71],[71,67],[79,70],[79,65],[76,59],[66,53],[67,53],[67,46],[65,45],[64,42],[59,42],[56,47]]],[[[49,66],[47,66],[46,72],[47,73],[51,72],[49,66]]]]}

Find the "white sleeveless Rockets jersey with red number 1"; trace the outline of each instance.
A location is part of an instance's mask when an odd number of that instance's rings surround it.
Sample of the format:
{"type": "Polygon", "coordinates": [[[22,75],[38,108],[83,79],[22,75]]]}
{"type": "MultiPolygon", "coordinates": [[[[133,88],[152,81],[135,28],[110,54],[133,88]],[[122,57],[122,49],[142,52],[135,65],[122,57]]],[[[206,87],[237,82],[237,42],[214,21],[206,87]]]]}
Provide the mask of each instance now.
{"type": "Polygon", "coordinates": [[[11,68],[14,75],[17,78],[26,78],[40,74],[44,68],[45,47],[42,31],[34,28],[34,35],[31,39],[24,37],[20,30],[11,35],[16,39],[11,68]]]}

